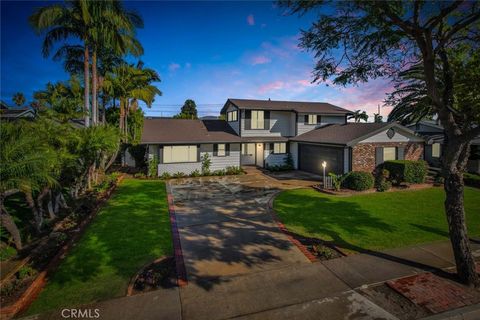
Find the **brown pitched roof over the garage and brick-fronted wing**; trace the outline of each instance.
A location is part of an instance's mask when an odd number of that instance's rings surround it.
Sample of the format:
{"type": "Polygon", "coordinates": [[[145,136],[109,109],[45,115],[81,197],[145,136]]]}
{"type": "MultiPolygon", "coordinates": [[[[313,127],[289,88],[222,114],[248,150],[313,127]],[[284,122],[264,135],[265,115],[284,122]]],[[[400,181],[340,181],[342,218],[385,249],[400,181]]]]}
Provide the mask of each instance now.
{"type": "Polygon", "coordinates": [[[346,123],[325,125],[301,134],[291,140],[323,144],[352,145],[391,127],[396,127],[404,132],[414,135],[413,131],[402,127],[396,122],[346,123]]]}

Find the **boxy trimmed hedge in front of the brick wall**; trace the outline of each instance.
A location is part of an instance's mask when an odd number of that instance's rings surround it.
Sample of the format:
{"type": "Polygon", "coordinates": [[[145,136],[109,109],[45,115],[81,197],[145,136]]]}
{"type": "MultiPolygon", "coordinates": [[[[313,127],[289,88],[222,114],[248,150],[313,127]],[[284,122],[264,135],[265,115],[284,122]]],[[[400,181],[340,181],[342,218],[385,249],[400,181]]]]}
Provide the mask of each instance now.
{"type": "Polygon", "coordinates": [[[423,160],[391,160],[383,163],[383,169],[390,172],[390,179],[396,184],[423,183],[427,176],[427,163],[423,160]]]}

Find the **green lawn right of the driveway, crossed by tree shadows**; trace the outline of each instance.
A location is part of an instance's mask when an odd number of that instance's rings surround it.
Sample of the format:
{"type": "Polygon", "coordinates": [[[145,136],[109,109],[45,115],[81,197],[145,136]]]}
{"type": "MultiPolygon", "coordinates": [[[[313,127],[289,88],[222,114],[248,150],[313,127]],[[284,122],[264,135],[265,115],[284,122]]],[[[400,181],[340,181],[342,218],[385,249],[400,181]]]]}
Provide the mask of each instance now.
{"type": "MultiPolygon", "coordinates": [[[[448,239],[442,188],[331,196],[311,189],[282,192],[274,208],[288,230],[348,250],[381,250],[448,239]]],[[[465,188],[470,236],[480,235],[480,190],[465,188]]]]}

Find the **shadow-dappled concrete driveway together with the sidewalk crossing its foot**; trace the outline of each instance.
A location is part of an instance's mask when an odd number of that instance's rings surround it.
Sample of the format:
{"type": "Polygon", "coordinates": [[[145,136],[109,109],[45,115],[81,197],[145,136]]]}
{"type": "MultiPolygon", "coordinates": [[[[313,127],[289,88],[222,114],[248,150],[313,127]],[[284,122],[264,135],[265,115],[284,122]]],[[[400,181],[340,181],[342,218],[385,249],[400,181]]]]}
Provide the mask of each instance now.
{"type": "Polygon", "coordinates": [[[311,263],[267,211],[293,187],[260,174],[172,181],[188,285],[88,307],[125,320],[397,319],[355,289],[454,266],[448,242],[311,263]]]}

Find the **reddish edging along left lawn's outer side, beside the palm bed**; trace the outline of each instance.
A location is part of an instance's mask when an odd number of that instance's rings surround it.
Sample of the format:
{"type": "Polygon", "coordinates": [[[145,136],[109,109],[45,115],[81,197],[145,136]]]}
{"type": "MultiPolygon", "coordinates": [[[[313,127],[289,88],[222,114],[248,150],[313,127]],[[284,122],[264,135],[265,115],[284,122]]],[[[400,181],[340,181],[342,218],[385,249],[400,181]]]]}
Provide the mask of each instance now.
{"type": "Polygon", "coordinates": [[[80,239],[85,230],[87,229],[90,222],[97,215],[103,205],[107,202],[108,199],[112,196],[113,192],[117,186],[124,179],[124,175],[118,177],[117,182],[105,192],[105,194],[99,199],[92,212],[83,220],[78,226],[78,231],[70,238],[70,240],[63,245],[60,250],[55,254],[53,259],[48,263],[47,267],[38,274],[38,276],[33,280],[30,286],[23,292],[20,298],[12,305],[9,305],[4,308],[0,308],[0,316],[2,319],[11,319],[17,314],[25,311],[33,303],[33,301],[38,297],[40,292],[43,290],[48,281],[48,276],[50,276],[60,265],[61,261],[68,252],[72,249],[75,243],[80,239]]]}

